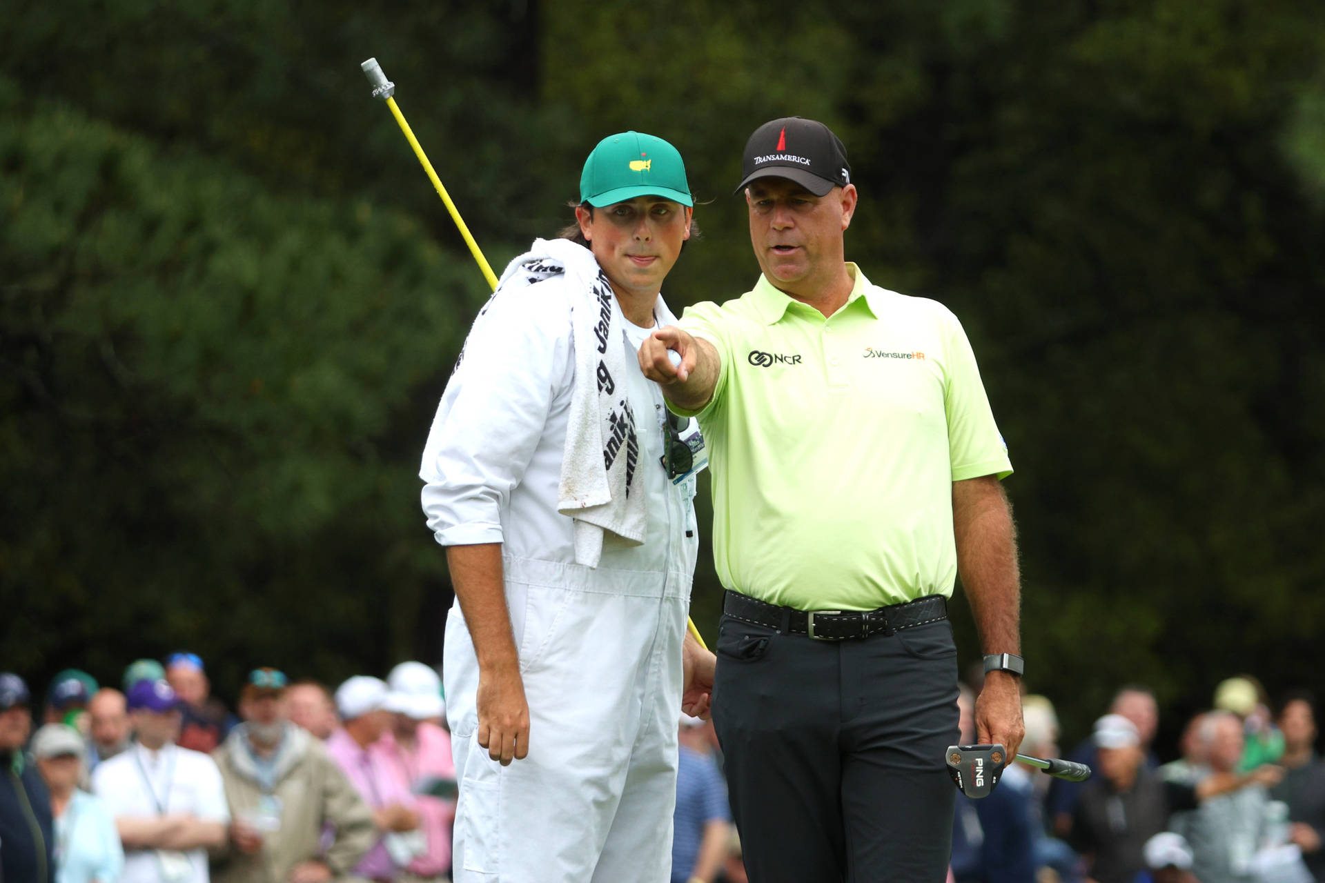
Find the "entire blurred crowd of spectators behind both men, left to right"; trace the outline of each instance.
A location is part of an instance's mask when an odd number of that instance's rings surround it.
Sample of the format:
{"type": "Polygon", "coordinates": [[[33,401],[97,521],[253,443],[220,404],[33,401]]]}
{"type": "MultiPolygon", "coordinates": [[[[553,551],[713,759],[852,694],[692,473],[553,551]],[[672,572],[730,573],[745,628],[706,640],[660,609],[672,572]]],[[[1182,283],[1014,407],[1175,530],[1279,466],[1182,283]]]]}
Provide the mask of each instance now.
{"type": "MultiPolygon", "coordinates": [[[[139,659],[119,686],[66,670],[34,696],[0,674],[0,883],[449,879],[456,781],[429,666],[334,691],[254,669],[236,714],[191,653],[139,659]]],[[[988,797],[958,794],[951,883],[1325,883],[1312,696],[1272,704],[1230,678],[1166,764],[1146,687],[1100,711],[1061,755],[1053,704],[1024,698],[1022,753],[1094,776],[1012,764],[988,797]]],[[[746,883],[713,725],[682,716],[678,743],[672,882],[746,883]]]]}

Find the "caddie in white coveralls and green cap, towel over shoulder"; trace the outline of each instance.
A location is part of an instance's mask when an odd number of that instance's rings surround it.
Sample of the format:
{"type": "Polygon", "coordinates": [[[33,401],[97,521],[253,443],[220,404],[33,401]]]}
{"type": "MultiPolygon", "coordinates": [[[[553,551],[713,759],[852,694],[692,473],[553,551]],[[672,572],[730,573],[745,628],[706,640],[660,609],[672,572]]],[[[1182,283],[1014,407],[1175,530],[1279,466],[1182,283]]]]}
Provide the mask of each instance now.
{"type": "Polygon", "coordinates": [[[511,261],[437,409],[457,883],[668,879],[676,720],[708,714],[714,667],[686,635],[705,461],[636,353],[676,322],[659,291],[692,205],[672,144],[603,139],[578,242],[511,261]]]}

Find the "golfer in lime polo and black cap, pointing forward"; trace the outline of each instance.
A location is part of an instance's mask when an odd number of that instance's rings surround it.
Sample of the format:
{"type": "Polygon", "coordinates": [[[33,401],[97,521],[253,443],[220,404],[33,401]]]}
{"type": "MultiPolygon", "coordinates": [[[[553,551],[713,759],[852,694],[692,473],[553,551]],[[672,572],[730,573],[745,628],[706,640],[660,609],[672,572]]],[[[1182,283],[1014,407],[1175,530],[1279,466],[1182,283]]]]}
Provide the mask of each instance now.
{"type": "Polygon", "coordinates": [[[958,571],[990,654],[977,735],[1022,741],[1012,467],[957,318],[844,259],[857,192],[836,135],[765,123],[738,191],[763,274],[652,334],[640,365],[713,461],[713,720],[746,867],[938,883],[958,571]]]}

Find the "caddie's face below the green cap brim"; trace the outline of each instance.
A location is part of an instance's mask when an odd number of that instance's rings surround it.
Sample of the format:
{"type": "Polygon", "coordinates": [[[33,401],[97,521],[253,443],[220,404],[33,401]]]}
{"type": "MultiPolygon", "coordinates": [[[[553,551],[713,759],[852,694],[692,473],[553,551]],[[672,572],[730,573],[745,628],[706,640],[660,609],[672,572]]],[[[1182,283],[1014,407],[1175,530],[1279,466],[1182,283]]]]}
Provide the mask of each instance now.
{"type": "Polygon", "coordinates": [[[653,297],[690,238],[693,209],[659,196],[575,209],[580,233],[617,297],[653,297]]]}

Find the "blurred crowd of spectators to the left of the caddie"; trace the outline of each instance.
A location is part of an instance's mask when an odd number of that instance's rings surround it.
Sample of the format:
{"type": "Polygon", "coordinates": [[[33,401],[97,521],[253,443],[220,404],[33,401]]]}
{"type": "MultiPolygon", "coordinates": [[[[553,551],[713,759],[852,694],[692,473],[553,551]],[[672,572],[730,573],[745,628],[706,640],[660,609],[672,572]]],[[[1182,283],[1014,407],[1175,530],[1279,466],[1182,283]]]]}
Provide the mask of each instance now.
{"type": "Polygon", "coordinates": [[[448,879],[456,782],[429,666],[334,692],[254,669],[237,715],[191,653],[139,659],[121,687],[66,670],[41,698],[0,674],[4,883],[448,879]]]}

